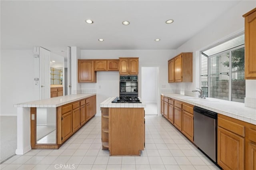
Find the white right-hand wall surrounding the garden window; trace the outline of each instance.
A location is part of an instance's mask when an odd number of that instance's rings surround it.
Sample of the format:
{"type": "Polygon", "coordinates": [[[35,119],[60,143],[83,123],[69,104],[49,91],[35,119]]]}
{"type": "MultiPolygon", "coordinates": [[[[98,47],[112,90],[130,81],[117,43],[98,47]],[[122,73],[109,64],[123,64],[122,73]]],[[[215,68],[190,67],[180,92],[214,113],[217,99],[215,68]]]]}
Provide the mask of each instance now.
{"type": "MultiPolygon", "coordinates": [[[[192,51],[194,56],[193,83],[176,83],[176,89],[193,90],[200,87],[200,51],[243,32],[244,18],[242,15],[255,7],[256,1],[241,1],[177,49],[176,54],[192,51]]],[[[256,98],[255,81],[246,80],[246,97],[249,95],[248,92],[256,98]]]]}

